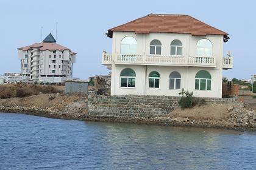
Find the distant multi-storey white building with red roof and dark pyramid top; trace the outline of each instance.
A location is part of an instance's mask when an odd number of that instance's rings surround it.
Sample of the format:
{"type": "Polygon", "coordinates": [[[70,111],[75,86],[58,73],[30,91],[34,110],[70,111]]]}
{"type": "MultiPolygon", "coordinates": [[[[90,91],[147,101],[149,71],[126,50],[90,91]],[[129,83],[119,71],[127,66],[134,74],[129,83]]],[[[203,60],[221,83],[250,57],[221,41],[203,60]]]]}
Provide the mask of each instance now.
{"type": "Polygon", "coordinates": [[[49,33],[43,42],[18,48],[21,75],[34,82],[63,83],[72,78],[76,53],[56,43],[49,33]]]}

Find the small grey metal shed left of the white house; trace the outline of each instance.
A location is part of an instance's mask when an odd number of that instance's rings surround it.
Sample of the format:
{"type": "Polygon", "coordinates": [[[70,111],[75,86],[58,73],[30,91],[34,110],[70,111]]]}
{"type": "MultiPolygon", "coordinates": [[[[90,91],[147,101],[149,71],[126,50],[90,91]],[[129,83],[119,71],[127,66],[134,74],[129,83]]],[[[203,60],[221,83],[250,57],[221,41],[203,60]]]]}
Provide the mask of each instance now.
{"type": "Polygon", "coordinates": [[[88,81],[85,80],[67,80],[65,81],[65,94],[68,93],[87,93],[88,81]]]}

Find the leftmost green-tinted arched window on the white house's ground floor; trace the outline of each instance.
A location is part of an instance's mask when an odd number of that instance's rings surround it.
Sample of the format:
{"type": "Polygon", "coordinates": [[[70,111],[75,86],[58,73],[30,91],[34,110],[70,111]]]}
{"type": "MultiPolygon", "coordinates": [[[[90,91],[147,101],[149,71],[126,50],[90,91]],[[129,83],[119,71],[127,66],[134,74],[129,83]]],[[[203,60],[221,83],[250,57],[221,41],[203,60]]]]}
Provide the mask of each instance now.
{"type": "Polygon", "coordinates": [[[135,87],[136,73],[132,69],[123,69],[120,73],[120,87],[135,87]]]}

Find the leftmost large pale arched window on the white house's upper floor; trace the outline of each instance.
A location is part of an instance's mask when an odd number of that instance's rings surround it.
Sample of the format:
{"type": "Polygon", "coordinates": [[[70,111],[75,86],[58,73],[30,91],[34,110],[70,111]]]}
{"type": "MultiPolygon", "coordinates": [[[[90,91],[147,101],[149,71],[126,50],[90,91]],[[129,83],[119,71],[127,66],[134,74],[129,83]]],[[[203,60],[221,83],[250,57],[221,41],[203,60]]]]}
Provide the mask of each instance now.
{"type": "Polygon", "coordinates": [[[137,41],[132,36],[126,36],[121,41],[121,54],[136,54],[137,41]]]}

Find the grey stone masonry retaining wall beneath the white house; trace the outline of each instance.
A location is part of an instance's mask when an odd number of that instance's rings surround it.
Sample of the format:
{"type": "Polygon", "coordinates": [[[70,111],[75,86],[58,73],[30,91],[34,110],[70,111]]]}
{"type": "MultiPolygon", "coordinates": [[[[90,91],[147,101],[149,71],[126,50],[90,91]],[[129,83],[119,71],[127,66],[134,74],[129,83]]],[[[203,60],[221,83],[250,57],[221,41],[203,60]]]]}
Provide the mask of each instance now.
{"type": "MultiPolygon", "coordinates": [[[[88,94],[88,115],[105,117],[160,117],[178,106],[180,97],[102,96],[88,94]]],[[[236,102],[236,98],[205,98],[206,103],[236,102]]]]}

